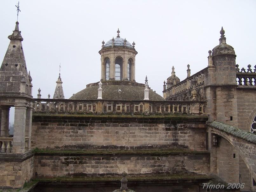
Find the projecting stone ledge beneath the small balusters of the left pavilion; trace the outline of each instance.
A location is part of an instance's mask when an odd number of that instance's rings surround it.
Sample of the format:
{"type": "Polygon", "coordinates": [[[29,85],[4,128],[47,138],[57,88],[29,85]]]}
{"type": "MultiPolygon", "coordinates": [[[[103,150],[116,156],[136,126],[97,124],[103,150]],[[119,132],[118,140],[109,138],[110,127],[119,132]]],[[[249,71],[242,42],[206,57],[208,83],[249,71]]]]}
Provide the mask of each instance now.
{"type": "Polygon", "coordinates": [[[27,151],[22,154],[18,153],[0,153],[0,162],[23,162],[34,156],[34,150],[27,151]]]}

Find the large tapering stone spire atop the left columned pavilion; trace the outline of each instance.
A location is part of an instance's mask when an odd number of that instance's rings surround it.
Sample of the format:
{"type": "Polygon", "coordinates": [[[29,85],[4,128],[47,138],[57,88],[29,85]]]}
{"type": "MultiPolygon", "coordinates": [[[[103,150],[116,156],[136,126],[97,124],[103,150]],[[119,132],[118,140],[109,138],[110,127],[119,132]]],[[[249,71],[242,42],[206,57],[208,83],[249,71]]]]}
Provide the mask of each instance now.
{"type": "Polygon", "coordinates": [[[0,96],[32,98],[30,89],[30,80],[32,79],[28,76],[19,22],[16,22],[15,29],[8,38],[10,39],[10,44],[0,68],[0,96]]]}

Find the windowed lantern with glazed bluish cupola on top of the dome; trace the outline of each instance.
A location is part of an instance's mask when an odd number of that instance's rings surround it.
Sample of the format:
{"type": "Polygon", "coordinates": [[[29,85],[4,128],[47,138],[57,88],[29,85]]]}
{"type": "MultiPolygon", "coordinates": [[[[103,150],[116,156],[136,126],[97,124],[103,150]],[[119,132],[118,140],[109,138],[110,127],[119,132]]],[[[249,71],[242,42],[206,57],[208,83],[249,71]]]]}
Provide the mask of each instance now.
{"type": "Polygon", "coordinates": [[[129,43],[119,36],[107,43],[102,42],[101,81],[133,81],[135,82],[135,43],[129,43]]]}

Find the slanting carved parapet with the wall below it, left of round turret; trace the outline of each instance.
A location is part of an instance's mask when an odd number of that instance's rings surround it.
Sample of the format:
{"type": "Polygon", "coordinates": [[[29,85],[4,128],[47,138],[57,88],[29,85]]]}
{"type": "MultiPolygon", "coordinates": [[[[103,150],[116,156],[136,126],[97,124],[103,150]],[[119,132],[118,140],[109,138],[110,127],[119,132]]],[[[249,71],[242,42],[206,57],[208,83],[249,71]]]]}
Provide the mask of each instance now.
{"type": "Polygon", "coordinates": [[[199,87],[202,87],[205,84],[206,73],[207,73],[207,67],[197,72],[196,74],[186,78],[180,83],[177,83],[172,87],[164,90],[163,92],[166,94],[166,99],[177,100],[177,101],[191,101],[192,100],[191,90],[193,88],[192,81],[196,81],[195,87],[198,92],[197,98],[200,101],[205,101],[204,90],[199,89],[199,87]]]}

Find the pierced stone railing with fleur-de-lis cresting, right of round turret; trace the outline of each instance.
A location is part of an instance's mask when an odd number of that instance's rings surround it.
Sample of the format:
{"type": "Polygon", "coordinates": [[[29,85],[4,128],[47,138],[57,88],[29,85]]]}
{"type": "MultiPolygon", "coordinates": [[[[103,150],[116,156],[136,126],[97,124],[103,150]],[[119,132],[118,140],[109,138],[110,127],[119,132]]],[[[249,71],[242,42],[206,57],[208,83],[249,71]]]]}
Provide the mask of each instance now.
{"type": "Polygon", "coordinates": [[[239,87],[251,87],[254,86],[256,88],[256,65],[254,66],[254,70],[251,69],[251,65],[248,65],[248,69],[242,68],[241,70],[238,68],[239,65],[236,65],[236,81],[239,87]]]}

